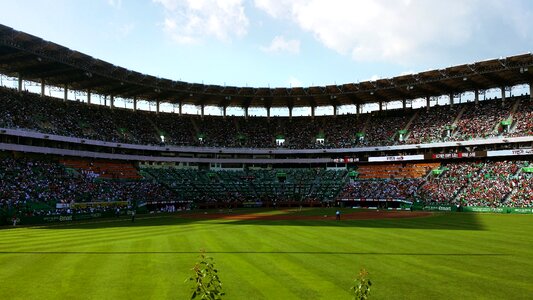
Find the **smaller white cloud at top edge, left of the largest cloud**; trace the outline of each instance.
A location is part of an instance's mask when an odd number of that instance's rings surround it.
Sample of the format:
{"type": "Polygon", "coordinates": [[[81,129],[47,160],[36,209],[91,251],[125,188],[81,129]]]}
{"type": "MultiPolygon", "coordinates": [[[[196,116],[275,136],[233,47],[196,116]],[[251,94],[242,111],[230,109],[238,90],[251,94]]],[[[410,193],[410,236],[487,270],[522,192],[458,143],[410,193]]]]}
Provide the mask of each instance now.
{"type": "Polygon", "coordinates": [[[164,30],[178,43],[198,43],[208,37],[229,41],[247,33],[243,0],[153,0],[163,6],[164,30]]]}

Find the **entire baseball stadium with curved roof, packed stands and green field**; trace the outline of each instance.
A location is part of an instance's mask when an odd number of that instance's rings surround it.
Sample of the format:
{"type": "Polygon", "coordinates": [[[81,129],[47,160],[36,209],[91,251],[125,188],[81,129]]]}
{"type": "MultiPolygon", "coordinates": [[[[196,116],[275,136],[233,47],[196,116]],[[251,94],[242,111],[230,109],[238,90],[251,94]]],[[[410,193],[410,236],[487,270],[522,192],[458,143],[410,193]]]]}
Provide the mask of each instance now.
{"type": "Polygon", "coordinates": [[[531,53],[239,87],[0,25],[0,73],[0,299],[533,295],[531,53]]]}

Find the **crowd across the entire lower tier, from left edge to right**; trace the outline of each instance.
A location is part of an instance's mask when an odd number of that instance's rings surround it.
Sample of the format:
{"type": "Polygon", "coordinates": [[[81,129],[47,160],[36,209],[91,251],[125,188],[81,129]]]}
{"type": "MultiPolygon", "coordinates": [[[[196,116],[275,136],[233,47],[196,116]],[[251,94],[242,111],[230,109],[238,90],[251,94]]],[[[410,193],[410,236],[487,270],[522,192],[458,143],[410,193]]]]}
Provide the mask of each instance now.
{"type": "Polygon", "coordinates": [[[421,199],[463,206],[532,207],[533,176],[522,161],[449,163],[440,175],[415,179],[348,181],[346,171],[283,169],[200,171],[145,168],[142,180],[105,180],[93,172],[76,173],[48,159],[0,158],[0,211],[50,215],[106,211],[108,206],[56,208],[89,202],[244,202],[421,199]]]}

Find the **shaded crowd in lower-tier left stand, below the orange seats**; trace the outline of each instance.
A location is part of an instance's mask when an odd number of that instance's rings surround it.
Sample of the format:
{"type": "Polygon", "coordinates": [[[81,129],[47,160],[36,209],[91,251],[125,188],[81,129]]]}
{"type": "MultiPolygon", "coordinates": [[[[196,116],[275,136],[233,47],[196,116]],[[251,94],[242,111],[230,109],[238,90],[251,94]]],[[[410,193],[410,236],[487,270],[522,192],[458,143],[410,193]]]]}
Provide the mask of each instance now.
{"type": "Polygon", "coordinates": [[[25,214],[55,211],[57,203],[139,202],[172,199],[174,193],[146,180],[102,180],[93,173],[67,172],[60,163],[0,158],[0,209],[25,214]]]}

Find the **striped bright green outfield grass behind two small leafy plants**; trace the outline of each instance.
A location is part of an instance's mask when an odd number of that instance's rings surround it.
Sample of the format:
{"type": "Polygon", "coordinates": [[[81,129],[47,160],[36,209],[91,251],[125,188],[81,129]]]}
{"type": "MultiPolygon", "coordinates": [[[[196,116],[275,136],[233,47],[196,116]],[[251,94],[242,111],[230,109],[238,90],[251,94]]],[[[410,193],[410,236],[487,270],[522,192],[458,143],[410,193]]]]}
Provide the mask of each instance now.
{"type": "MultiPolygon", "coordinates": [[[[330,214],[304,210],[292,214],[330,214]]],[[[175,216],[0,229],[0,299],[188,299],[205,249],[226,299],[531,299],[533,216],[360,221],[175,216]]]]}

